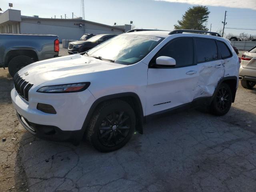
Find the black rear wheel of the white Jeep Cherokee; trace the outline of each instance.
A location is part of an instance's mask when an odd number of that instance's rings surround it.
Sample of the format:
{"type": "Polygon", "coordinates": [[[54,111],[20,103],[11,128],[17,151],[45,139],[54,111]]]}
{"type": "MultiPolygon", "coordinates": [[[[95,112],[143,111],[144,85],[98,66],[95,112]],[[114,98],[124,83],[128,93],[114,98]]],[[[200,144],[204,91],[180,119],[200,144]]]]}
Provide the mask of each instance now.
{"type": "Polygon", "coordinates": [[[232,104],[232,92],[228,84],[222,83],[212,100],[210,110],[212,114],[222,116],[226,114],[232,104]]]}

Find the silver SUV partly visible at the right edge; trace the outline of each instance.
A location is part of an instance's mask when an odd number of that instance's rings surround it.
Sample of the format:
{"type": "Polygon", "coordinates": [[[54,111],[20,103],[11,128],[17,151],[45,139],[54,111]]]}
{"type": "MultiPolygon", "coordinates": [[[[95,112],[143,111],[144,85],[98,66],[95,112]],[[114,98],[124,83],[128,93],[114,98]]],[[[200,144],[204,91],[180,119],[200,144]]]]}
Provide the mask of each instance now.
{"type": "Polygon", "coordinates": [[[256,46],[242,54],[239,79],[244,88],[252,89],[256,85],[256,46]]]}

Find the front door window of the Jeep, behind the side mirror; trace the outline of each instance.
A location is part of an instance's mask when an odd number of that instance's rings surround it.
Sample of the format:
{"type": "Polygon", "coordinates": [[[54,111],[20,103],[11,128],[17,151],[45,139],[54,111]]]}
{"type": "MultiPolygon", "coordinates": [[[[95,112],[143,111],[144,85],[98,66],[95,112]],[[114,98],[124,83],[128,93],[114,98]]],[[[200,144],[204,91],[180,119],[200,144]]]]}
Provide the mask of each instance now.
{"type": "Polygon", "coordinates": [[[171,41],[156,54],[155,59],[160,56],[174,58],[176,67],[192,65],[194,58],[193,39],[181,38],[171,41]]]}

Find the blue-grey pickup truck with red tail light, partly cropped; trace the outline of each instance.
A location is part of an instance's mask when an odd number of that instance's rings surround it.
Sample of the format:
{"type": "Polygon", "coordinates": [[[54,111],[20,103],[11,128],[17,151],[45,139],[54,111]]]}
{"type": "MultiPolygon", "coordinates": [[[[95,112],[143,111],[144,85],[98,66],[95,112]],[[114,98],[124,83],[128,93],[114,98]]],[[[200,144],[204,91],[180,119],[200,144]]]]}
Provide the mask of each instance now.
{"type": "Polygon", "coordinates": [[[8,67],[11,76],[28,64],[58,54],[56,35],[0,34],[0,67],[8,67]]]}

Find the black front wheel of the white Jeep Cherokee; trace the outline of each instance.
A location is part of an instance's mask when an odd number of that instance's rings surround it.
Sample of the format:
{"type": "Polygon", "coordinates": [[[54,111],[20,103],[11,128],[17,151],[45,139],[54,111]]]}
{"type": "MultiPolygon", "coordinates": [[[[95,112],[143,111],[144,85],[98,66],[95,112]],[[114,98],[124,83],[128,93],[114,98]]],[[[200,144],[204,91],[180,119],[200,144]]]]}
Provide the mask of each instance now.
{"type": "Polygon", "coordinates": [[[86,137],[100,152],[122,148],[132,137],[136,117],[132,107],[122,100],[101,104],[94,112],[86,137]]]}

